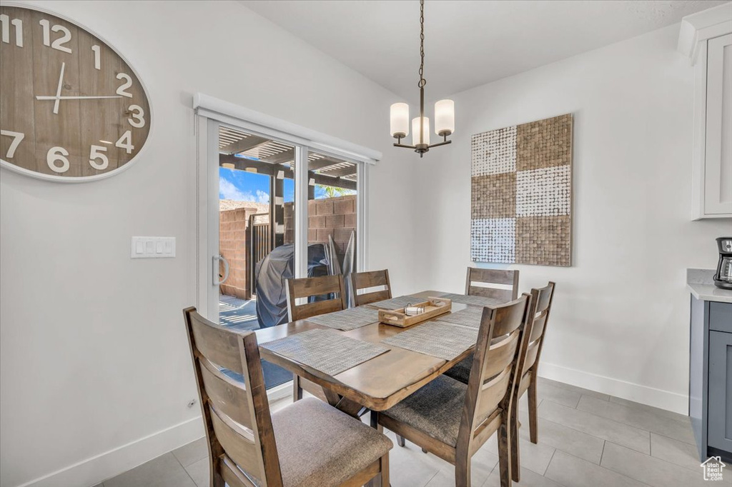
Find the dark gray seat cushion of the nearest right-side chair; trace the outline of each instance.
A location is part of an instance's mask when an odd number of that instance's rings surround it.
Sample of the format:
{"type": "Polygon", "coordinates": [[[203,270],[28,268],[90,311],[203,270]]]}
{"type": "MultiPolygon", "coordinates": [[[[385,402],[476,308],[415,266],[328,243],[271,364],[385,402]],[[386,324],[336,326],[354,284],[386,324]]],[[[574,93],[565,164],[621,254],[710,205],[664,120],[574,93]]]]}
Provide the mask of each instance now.
{"type": "Polygon", "coordinates": [[[381,414],[455,446],[467,390],[463,382],[441,375],[381,414]]]}

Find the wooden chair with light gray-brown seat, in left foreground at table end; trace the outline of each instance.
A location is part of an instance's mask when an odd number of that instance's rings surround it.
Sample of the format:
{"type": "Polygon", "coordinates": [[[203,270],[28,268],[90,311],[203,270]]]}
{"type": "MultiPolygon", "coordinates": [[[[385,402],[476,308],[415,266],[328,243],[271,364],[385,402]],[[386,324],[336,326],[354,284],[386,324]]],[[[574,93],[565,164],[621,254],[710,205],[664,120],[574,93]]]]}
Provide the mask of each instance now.
{"type": "Polygon", "coordinates": [[[378,477],[389,485],[388,438],[313,398],[270,414],[255,333],[228,330],[195,308],[183,314],[206,426],[209,486],[351,487],[378,477]]]}

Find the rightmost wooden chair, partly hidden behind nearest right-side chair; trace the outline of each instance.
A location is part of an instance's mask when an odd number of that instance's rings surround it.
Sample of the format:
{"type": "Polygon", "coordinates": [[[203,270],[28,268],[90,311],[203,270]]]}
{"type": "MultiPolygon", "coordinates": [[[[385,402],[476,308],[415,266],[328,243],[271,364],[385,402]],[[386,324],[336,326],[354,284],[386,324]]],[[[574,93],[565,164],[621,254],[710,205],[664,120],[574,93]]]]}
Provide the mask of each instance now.
{"type": "MultiPolygon", "coordinates": [[[[518,411],[518,399],[529,391],[529,439],[532,443],[539,441],[539,424],[537,412],[537,377],[539,369],[539,358],[541,357],[542,347],[544,345],[544,337],[546,335],[547,322],[551,311],[551,303],[554,298],[553,282],[549,282],[545,287],[531,290],[531,306],[529,307],[529,317],[531,319],[531,333],[524,336],[524,347],[526,355],[523,361],[519,363],[521,379],[518,381],[518,393],[514,404],[518,411]]],[[[518,414],[518,413],[517,413],[518,414]]],[[[520,480],[520,453],[518,444],[518,422],[515,423],[516,430],[513,431],[515,441],[512,442],[512,459],[514,468],[512,469],[513,480],[520,480]]]]}

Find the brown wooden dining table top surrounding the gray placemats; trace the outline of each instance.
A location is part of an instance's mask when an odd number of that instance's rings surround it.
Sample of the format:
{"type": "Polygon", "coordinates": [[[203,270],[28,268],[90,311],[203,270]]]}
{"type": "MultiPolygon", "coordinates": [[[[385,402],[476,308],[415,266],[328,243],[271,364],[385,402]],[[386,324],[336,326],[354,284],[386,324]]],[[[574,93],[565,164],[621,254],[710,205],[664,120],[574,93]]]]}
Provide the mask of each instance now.
{"type": "MultiPolygon", "coordinates": [[[[444,294],[447,293],[427,290],[411,294],[410,296],[427,298],[439,297],[444,294]]],[[[466,304],[453,302],[451,312],[458,312],[466,309],[466,307],[466,304]]],[[[439,317],[433,318],[433,320],[437,318],[439,317]]],[[[393,407],[399,401],[414,393],[415,390],[422,388],[422,386],[436,379],[445,371],[452,368],[452,366],[455,366],[460,360],[468,357],[474,350],[474,347],[470,347],[452,360],[444,360],[400,347],[390,346],[383,343],[383,340],[411,328],[400,328],[374,322],[361,328],[356,328],[351,331],[338,331],[338,333],[342,333],[343,336],[348,336],[352,339],[380,344],[388,348],[389,351],[370,360],[366,360],[363,363],[359,363],[359,365],[351,369],[330,376],[284,355],[272,352],[266,347],[261,347],[261,345],[266,344],[268,341],[282,339],[286,336],[293,336],[296,333],[317,328],[328,327],[309,322],[308,320],[298,320],[272,328],[257,330],[256,335],[257,341],[260,344],[261,358],[275,363],[283,367],[283,369],[299,375],[299,377],[320,385],[324,389],[327,401],[332,406],[354,416],[359,415],[365,409],[378,412],[393,407]]]]}

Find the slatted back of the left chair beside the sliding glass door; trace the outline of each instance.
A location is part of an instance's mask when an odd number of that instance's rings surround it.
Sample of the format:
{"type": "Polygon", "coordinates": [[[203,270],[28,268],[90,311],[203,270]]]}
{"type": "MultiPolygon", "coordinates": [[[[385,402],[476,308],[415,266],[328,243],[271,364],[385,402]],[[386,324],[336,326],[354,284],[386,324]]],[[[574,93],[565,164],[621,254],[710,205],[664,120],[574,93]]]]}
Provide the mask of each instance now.
{"type": "Polygon", "coordinates": [[[343,276],[303,277],[287,280],[287,312],[289,321],[305,320],[318,314],[346,309],[346,287],[343,276]],[[312,303],[297,304],[299,298],[321,295],[337,295],[335,298],[312,303]]]}

